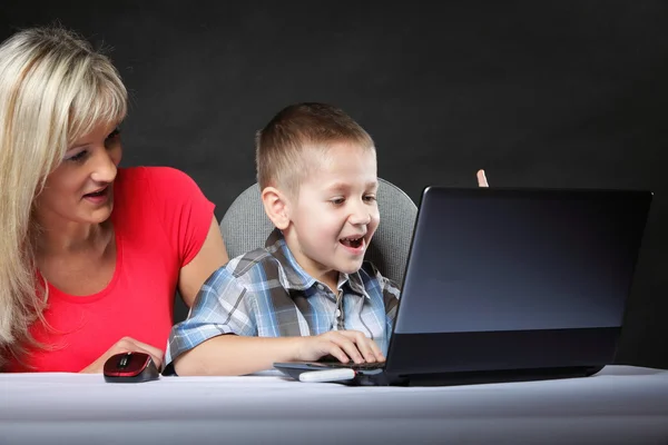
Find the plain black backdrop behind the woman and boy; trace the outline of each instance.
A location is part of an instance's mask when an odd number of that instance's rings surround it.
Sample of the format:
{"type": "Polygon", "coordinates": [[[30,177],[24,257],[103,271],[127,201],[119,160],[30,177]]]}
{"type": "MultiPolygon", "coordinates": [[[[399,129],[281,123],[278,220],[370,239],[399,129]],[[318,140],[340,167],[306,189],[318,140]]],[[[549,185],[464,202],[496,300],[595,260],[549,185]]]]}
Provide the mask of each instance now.
{"type": "Polygon", "coordinates": [[[111,49],[122,164],[185,170],[218,219],[255,180],[255,130],[304,100],[356,118],[415,201],[481,167],[492,186],[651,189],[618,362],[668,368],[665,2],[10,0],[0,38],[55,20],[111,49]]]}

